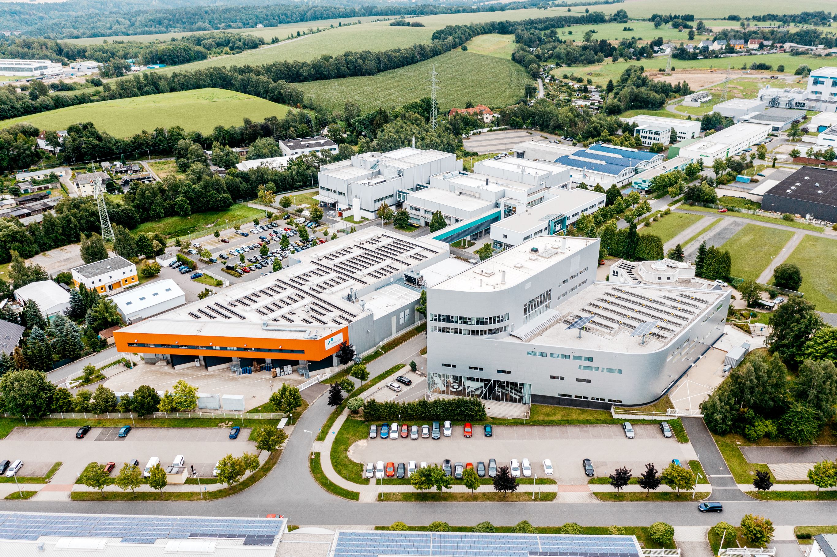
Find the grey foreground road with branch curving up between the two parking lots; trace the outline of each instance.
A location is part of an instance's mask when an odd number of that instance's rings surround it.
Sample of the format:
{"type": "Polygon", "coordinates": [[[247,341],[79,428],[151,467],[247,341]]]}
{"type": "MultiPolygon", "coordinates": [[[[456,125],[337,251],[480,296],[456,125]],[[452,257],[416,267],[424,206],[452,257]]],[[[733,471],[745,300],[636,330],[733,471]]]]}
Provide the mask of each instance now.
{"type": "MultiPolygon", "coordinates": [[[[283,514],[292,524],[369,525],[429,524],[513,524],[527,519],[532,524],[563,524],[575,521],[588,525],[650,524],[664,520],[674,525],[715,524],[715,515],[700,514],[694,503],[357,503],[333,497],[311,478],[307,459],[311,435],[319,431],[331,412],[327,397],[312,404],[295,428],[276,468],[255,488],[234,497],[208,503],[94,503],[0,501],[0,510],[62,513],[186,514],[208,516],[264,516],[283,514]]],[[[702,424],[701,424],[702,425],[702,424]]],[[[691,427],[690,427],[691,429],[691,427]]],[[[714,484],[715,482],[713,482],[714,484]]],[[[739,492],[740,493],[740,492],[739,492]]],[[[727,493],[716,491],[716,499],[727,493]]],[[[729,493],[732,496],[732,493],[729,493]]],[[[736,493],[738,496],[738,493],[736,493]]],[[[730,497],[732,498],[732,497],[730,497]]],[[[747,499],[725,503],[723,519],[737,524],[743,514],[762,514],[773,524],[837,524],[837,503],[764,503],[747,499]]]]}

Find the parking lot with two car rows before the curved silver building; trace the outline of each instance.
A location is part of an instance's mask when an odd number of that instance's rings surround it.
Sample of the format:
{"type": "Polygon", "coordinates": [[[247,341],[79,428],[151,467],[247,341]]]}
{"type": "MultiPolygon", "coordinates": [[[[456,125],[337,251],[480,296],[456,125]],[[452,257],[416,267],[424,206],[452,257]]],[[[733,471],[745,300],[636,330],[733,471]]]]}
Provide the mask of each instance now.
{"type": "MultiPolygon", "coordinates": [[[[412,425],[412,424],[410,424],[412,425]]],[[[451,437],[411,440],[409,438],[362,439],[349,447],[348,456],[356,462],[429,462],[441,465],[452,462],[485,462],[508,466],[512,458],[528,458],[532,472],[544,478],[543,460],[552,460],[553,479],[557,483],[587,483],[582,460],[590,458],[596,476],[607,477],[614,469],[627,466],[639,475],[645,462],[654,462],[658,470],[672,458],[686,462],[696,459],[690,443],[666,439],[656,424],[634,423],[636,437],[624,437],[621,426],[497,426],[493,437],[484,437],[482,427],[474,428],[474,437],[463,437],[463,427],[454,427],[451,437]]]]}

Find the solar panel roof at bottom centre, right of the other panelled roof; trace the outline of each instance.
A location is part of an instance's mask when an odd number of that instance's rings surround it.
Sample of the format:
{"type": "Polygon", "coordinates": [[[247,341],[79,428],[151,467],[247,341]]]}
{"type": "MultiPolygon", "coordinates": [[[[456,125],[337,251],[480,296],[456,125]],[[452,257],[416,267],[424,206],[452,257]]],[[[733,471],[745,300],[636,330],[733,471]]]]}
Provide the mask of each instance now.
{"type": "Polygon", "coordinates": [[[454,532],[338,532],[334,557],[444,555],[445,557],[639,557],[633,536],[477,534],[454,532]]]}

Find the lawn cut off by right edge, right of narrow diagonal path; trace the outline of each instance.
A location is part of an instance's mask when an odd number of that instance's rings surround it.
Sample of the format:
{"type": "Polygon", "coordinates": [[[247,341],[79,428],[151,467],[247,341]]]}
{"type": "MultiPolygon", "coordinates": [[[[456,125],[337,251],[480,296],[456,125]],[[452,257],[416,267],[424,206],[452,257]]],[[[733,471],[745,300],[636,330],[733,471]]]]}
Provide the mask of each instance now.
{"type": "Polygon", "coordinates": [[[802,270],[799,291],[819,311],[837,312],[837,239],[806,235],[786,263],[796,263],[802,270]]]}

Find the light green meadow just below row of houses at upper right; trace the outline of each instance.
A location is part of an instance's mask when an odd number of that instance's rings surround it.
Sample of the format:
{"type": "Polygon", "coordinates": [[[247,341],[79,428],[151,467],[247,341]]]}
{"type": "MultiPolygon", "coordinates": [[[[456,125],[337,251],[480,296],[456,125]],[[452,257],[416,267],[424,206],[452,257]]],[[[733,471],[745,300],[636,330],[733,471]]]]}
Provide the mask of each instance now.
{"type": "MultiPolygon", "coordinates": [[[[614,6],[615,5],[616,4],[614,4],[614,6]]],[[[747,66],[749,66],[753,62],[771,64],[774,70],[778,67],[779,64],[783,64],[785,67],[785,74],[793,74],[793,72],[803,64],[809,66],[809,68],[814,69],[833,64],[833,62],[825,56],[791,56],[787,53],[751,54],[749,56],[735,56],[732,58],[672,60],[671,64],[675,67],[675,71],[672,72],[672,75],[675,78],[677,78],[678,69],[701,68],[726,70],[727,64],[732,64],[732,69],[739,69],[742,67],[742,64],[746,63],[747,66]]],[[[615,64],[613,62],[605,62],[605,64],[596,64],[593,66],[587,66],[585,68],[579,68],[578,66],[565,66],[562,68],[553,69],[552,74],[560,77],[562,74],[574,72],[576,75],[582,75],[585,77],[589,77],[590,79],[593,79],[593,83],[607,83],[608,79],[614,79],[614,81],[618,79],[619,75],[621,75],[622,72],[624,72],[624,70],[629,65],[642,65],[645,69],[658,69],[661,67],[665,67],[665,59],[650,59],[642,60],[641,62],[637,62],[636,60],[619,61],[615,64]]],[[[776,74],[776,71],[765,72],[765,74],[776,74]]],[[[758,74],[753,73],[754,77],[756,75],[758,74]]],[[[683,79],[686,79],[686,81],[688,81],[689,75],[683,74],[683,79]]],[[[721,79],[723,79],[723,77],[722,75],[719,75],[718,80],[720,81],[721,79]]],[[[788,86],[785,83],[786,82],[781,82],[783,86],[788,86]]]]}

